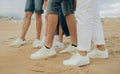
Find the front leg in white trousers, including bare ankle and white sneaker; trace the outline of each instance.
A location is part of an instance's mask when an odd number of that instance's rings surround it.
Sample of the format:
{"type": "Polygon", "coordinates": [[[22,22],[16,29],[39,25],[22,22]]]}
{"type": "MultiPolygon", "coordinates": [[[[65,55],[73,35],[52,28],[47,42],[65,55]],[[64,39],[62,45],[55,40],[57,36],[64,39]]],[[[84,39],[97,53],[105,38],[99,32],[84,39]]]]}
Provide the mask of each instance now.
{"type": "Polygon", "coordinates": [[[77,0],[76,20],[78,47],[73,56],[63,62],[64,65],[83,66],[89,64],[87,52],[90,51],[93,25],[90,23],[91,17],[87,15],[89,10],[87,8],[88,5],[87,1],[77,0]],[[83,4],[85,5],[83,6],[83,4]]]}

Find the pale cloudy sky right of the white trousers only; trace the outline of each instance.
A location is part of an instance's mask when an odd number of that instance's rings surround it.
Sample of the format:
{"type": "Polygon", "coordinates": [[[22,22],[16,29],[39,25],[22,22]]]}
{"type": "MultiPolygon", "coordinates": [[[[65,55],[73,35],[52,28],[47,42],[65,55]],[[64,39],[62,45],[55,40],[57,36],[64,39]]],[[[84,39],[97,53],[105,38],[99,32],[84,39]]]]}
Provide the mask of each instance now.
{"type": "Polygon", "coordinates": [[[101,0],[101,17],[120,17],[120,0],[101,0]]]}

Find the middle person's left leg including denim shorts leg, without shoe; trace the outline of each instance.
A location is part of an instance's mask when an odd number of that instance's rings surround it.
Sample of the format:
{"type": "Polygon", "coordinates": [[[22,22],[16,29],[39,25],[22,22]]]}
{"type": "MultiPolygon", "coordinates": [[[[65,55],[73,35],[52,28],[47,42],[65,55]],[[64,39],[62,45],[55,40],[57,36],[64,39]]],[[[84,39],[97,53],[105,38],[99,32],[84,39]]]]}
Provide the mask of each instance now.
{"type": "Polygon", "coordinates": [[[48,21],[47,21],[47,37],[45,45],[47,47],[52,47],[53,38],[56,30],[56,26],[58,23],[58,14],[59,14],[59,8],[61,5],[62,0],[49,0],[48,6],[47,6],[47,13],[48,13],[48,21]],[[56,7],[57,9],[52,9],[53,7],[56,7]]]}

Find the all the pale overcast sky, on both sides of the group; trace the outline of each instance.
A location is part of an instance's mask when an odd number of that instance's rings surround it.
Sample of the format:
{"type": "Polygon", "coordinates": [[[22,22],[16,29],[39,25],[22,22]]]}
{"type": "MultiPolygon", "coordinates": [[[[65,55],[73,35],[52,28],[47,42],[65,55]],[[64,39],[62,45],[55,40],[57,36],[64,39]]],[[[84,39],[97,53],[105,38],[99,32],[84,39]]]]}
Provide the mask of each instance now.
{"type": "MultiPolygon", "coordinates": [[[[26,0],[0,0],[0,14],[10,16],[24,16],[26,0]]],[[[120,17],[120,0],[100,0],[101,17],[120,17]]]]}

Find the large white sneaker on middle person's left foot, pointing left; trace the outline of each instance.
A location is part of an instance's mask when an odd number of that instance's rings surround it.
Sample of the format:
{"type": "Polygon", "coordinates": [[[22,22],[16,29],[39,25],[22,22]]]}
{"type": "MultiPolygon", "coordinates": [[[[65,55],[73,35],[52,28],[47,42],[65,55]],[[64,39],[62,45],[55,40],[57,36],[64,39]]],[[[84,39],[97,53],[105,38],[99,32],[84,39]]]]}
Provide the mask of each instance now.
{"type": "Polygon", "coordinates": [[[45,46],[43,46],[39,51],[33,53],[30,58],[31,59],[43,59],[50,56],[53,56],[56,54],[56,51],[54,48],[47,49],[45,46]]]}

